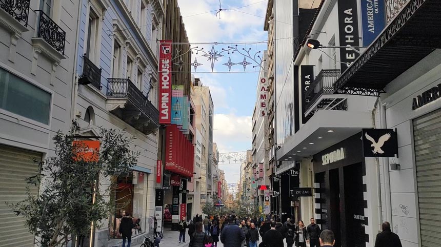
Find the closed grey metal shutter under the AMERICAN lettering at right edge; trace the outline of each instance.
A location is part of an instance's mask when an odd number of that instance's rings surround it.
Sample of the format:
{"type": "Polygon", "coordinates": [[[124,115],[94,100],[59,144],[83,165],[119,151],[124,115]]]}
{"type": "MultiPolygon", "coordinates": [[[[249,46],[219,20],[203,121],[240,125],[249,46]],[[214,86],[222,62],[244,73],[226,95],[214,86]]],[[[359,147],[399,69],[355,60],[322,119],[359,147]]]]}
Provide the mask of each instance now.
{"type": "Polygon", "coordinates": [[[441,110],[413,120],[422,247],[441,242],[441,110]]]}

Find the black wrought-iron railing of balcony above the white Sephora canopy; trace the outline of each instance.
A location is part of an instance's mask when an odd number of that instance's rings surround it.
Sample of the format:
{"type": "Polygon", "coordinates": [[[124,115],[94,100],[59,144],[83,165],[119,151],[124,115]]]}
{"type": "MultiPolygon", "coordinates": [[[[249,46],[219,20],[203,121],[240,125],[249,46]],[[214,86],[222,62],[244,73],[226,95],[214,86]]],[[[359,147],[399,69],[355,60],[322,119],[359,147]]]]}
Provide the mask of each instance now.
{"type": "Polygon", "coordinates": [[[334,93],[334,82],[340,77],[340,70],[322,70],[311,83],[305,93],[306,109],[309,109],[314,102],[324,93],[334,93]]]}

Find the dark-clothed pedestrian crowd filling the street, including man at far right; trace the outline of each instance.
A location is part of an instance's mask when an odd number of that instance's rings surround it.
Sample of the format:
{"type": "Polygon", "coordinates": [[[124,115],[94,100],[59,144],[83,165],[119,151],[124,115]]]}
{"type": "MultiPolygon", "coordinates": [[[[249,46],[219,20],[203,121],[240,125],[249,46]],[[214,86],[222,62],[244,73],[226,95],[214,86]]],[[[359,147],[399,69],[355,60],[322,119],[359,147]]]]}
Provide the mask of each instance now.
{"type": "MultiPolygon", "coordinates": [[[[189,247],[217,247],[222,242],[228,247],[283,247],[284,240],[288,247],[333,246],[335,237],[332,231],[322,231],[310,219],[305,227],[302,220],[295,222],[288,218],[282,223],[277,215],[265,219],[240,217],[234,214],[224,216],[196,215],[187,225],[185,218],[179,222],[179,243],[185,242],[185,230],[190,236],[189,247]],[[262,242],[259,243],[259,236],[262,242]]],[[[388,222],[383,224],[383,233],[377,235],[375,247],[402,247],[398,236],[390,231],[388,222]]]]}

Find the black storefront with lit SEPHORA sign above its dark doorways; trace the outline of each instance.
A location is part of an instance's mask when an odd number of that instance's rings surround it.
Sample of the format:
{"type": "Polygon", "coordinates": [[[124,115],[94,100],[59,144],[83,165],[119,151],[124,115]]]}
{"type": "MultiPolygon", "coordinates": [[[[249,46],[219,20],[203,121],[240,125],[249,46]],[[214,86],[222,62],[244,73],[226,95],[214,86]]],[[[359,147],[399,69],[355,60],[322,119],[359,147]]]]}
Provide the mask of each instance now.
{"type": "MultiPolygon", "coordinates": [[[[362,133],[314,155],[317,224],[332,230],[335,246],[366,247],[367,201],[362,133]],[[318,197],[318,196],[317,196],[318,197]]],[[[306,223],[306,222],[305,222],[306,223]]]]}

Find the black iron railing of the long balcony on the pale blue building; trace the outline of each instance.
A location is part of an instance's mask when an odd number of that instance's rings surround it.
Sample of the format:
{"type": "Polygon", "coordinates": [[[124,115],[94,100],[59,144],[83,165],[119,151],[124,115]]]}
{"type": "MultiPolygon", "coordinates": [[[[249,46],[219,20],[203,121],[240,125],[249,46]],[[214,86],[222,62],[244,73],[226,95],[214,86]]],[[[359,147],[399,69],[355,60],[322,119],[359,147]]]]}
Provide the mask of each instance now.
{"type": "MultiPolygon", "coordinates": [[[[149,129],[149,126],[152,129],[159,127],[159,111],[153,106],[147,97],[136,88],[130,79],[107,78],[107,96],[126,98],[129,101],[129,105],[133,106],[136,108],[136,111],[141,113],[141,115],[135,116],[134,119],[143,121],[143,126],[136,127],[139,127],[140,129],[143,129],[143,127],[149,129]],[[144,121],[143,119],[147,120],[144,121]]],[[[130,109],[130,106],[127,107],[127,112],[133,112],[133,110],[130,109]]],[[[134,123],[128,122],[128,124],[134,123]]]]}

